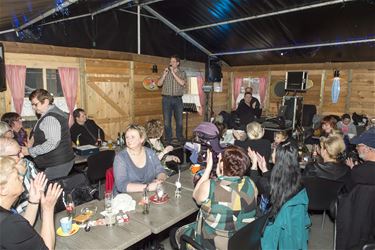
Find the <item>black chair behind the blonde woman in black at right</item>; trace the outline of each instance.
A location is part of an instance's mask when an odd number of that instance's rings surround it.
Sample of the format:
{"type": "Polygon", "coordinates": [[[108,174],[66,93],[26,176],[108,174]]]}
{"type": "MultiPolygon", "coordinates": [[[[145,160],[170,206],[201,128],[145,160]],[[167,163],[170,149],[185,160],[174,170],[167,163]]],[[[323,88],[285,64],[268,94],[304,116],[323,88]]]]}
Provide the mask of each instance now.
{"type": "Polygon", "coordinates": [[[309,197],[309,210],[323,211],[323,229],[326,211],[330,209],[344,183],[319,177],[304,177],[302,182],[309,197]]]}

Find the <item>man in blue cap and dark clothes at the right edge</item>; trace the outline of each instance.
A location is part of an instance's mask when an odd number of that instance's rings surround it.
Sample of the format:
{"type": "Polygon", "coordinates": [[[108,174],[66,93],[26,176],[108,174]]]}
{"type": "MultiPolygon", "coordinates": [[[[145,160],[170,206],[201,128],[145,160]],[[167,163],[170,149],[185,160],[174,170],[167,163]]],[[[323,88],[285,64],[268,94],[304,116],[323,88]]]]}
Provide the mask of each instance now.
{"type": "Polygon", "coordinates": [[[357,184],[375,185],[375,127],[354,137],[351,144],[355,144],[362,163],[356,164],[348,159],[346,164],[352,169],[350,181],[346,188],[351,190],[357,184]]]}

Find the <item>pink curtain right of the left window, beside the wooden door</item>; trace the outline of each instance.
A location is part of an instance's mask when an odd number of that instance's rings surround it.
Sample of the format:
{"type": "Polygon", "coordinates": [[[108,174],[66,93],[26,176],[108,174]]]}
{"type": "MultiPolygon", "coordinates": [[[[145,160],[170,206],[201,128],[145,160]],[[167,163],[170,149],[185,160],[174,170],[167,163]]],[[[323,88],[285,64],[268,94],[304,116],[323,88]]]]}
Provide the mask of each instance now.
{"type": "Polygon", "coordinates": [[[69,127],[73,125],[73,109],[77,98],[78,69],[58,68],[61,87],[64,92],[66,104],[69,109],[69,127]]]}

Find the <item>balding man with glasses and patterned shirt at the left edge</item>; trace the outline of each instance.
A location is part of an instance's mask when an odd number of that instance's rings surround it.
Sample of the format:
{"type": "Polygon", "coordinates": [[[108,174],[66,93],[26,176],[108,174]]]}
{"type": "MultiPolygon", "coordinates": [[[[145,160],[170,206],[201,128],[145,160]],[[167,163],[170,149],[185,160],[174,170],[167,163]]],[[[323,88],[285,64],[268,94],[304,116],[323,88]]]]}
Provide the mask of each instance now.
{"type": "Polygon", "coordinates": [[[18,169],[18,174],[23,176],[24,192],[14,206],[18,213],[23,213],[26,211],[28,205],[31,179],[36,178],[38,171],[35,169],[32,161],[23,158],[22,148],[14,139],[0,138],[0,156],[10,156],[16,160],[16,162],[21,160],[25,162],[26,168],[18,169]]]}

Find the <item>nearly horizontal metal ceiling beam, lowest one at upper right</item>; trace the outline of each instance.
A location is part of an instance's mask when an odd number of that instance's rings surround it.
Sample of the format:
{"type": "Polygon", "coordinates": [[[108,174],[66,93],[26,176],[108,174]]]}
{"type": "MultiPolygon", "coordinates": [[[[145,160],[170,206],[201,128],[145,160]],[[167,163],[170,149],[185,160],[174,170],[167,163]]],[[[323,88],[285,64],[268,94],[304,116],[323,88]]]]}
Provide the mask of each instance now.
{"type": "Polygon", "coordinates": [[[271,52],[271,51],[285,51],[294,49],[308,49],[317,47],[328,47],[328,46],[338,46],[338,45],[350,45],[350,44],[360,44],[360,43],[372,43],[375,42],[375,38],[361,39],[361,40],[350,40],[342,42],[328,42],[319,44],[306,44],[279,48],[266,48],[266,49],[253,49],[253,50],[243,50],[243,51],[232,51],[232,52],[219,52],[212,54],[213,56],[228,56],[228,55],[240,55],[240,54],[251,54],[251,53],[261,53],[261,52],[271,52]]]}

